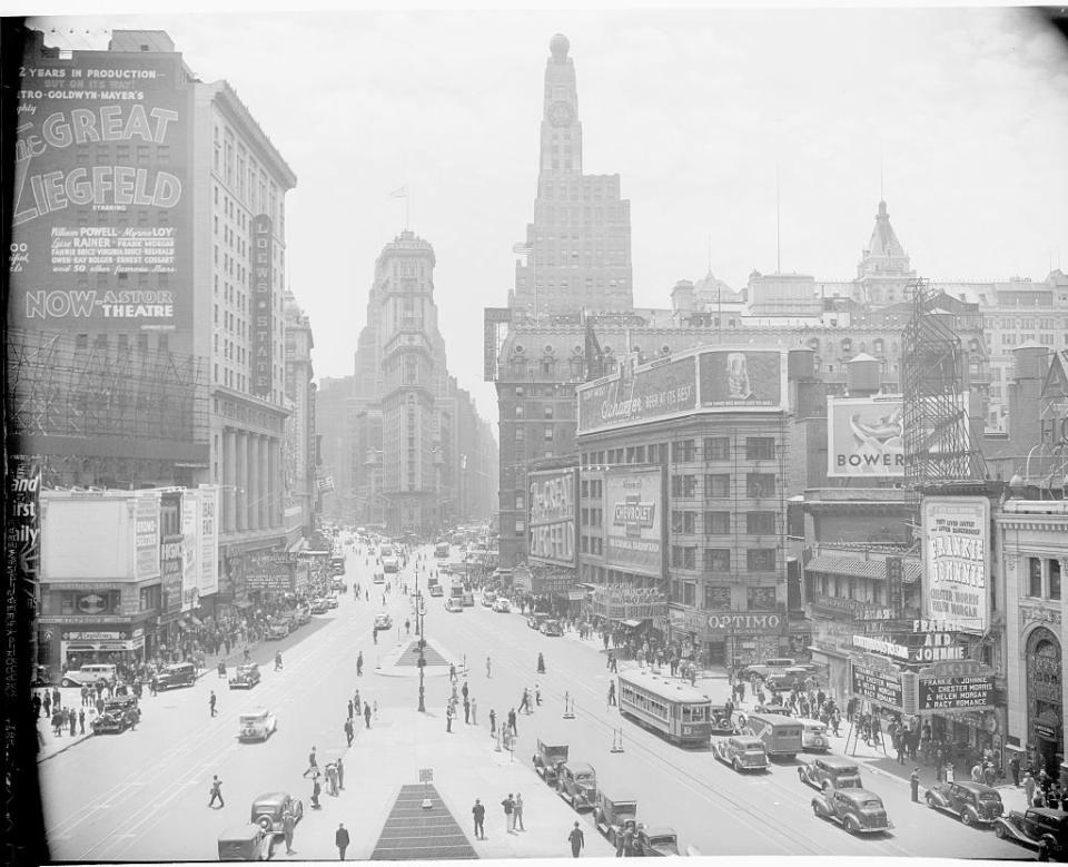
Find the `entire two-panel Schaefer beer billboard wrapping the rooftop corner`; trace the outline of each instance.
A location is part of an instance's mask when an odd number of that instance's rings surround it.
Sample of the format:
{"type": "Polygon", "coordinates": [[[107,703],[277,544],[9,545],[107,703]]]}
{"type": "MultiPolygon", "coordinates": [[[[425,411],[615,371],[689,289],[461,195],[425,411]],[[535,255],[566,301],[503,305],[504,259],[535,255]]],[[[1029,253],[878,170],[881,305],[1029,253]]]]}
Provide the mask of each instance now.
{"type": "Polygon", "coordinates": [[[624,370],[578,387],[578,434],[708,411],[787,406],[787,355],[715,348],[624,370]]]}

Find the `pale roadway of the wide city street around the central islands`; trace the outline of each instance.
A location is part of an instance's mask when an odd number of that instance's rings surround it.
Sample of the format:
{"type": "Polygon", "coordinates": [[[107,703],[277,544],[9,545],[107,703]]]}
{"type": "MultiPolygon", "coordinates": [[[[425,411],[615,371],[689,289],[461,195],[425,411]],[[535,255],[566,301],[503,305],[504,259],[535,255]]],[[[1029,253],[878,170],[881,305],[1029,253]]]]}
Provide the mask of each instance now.
{"type": "MultiPolygon", "coordinates": [[[[423,551],[428,553],[429,549],[423,551]]],[[[226,682],[209,671],[190,689],[146,697],[136,731],[90,738],[40,766],[53,859],[214,859],[218,834],[246,822],[251,799],[274,790],[289,791],[305,802],[294,857],[336,857],[336,822],[355,827],[362,816],[368,815],[362,811],[364,808],[356,809],[356,799],[366,797],[368,788],[376,785],[375,779],[364,779],[360,774],[362,762],[370,761],[377,749],[375,727],[389,727],[392,715],[407,715],[416,707],[418,682],[417,678],[376,673],[379,654],[385,656],[403,637],[404,620],[411,617],[411,603],[399,592],[399,582],[394,579],[394,590],[386,598],[394,629],[379,633],[375,646],[372,622],[383,610],[382,590],[376,595],[362,556],[349,553],[347,560],[345,581],[349,585],[357,581],[369,590],[370,601],[354,601],[352,591],[342,594],[339,608],[329,614],[313,618],[312,624],[285,641],[256,648],[253,656],[260,663],[264,680],[255,689],[229,691],[226,682]],[[281,672],[274,671],[276,650],[284,657],[281,672]],[[356,677],[358,651],[364,653],[362,678],[356,677]],[[364,701],[377,700],[380,719],[366,731],[357,717],[356,740],[346,749],[346,701],[356,688],[364,701]],[[218,716],[214,719],[208,708],[211,690],[218,696],[218,716]],[[239,743],[238,716],[260,706],[277,715],[278,731],[265,743],[239,743]],[[312,784],[301,778],[312,746],[317,747],[320,768],[336,756],[344,756],[346,763],[346,792],[336,800],[324,794],[322,812],[309,809],[312,784]],[[216,774],[222,780],[226,807],[208,809],[209,786],[216,774]]],[[[424,588],[425,575],[424,571],[419,578],[424,588]]],[[[403,580],[409,587],[413,583],[411,561],[403,580]]],[[[447,587],[447,579],[443,583],[447,587]]],[[[527,628],[518,613],[497,613],[481,604],[449,613],[444,599],[428,598],[427,603],[427,640],[458,668],[466,658],[466,680],[477,701],[481,728],[488,729],[491,709],[500,723],[510,708],[518,707],[524,686],[532,692],[540,686],[543,705],[533,715],[518,718],[516,762],[530,767],[538,737],[570,745],[571,758],[591,762],[606,791],[637,799],[640,820],[673,827],[683,849],[716,856],[1028,855],[997,840],[990,831],[962,827],[924,806],[910,804],[906,784],[868,769],[864,785],[883,798],[894,829],[884,836],[851,837],[812,815],[814,791],[799,782],[795,763],[775,765],[763,776],[742,777],[715,761],[711,751],[680,749],[621,720],[615,708],[605,707],[609,672],[596,642],[580,641],[574,633],[546,638],[527,628]],[[538,652],[545,656],[544,676],[535,671],[538,652]],[[488,679],[487,656],[492,660],[488,679]],[[565,692],[575,700],[575,719],[563,719],[565,692]],[[613,728],[620,727],[624,752],[612,753],[613,728]],[[724,834],[724,829],[731,832],[724,834]]],[[[426,706],[444,729],[449,682],[441,670],[434,673],[437,676],[426,678],[426,706]]],[[[726,694],[725,680],[706,679],[701,686],[715,701],[726,694]]],[[[70,693],[65,700],[77,701],[73,690],[65,692],[70,693]]],[[[462,716],[455,725],[463,727],[462,716]]],[[[393,732],[394,738],[396,735],[393,732]]],[[[486,755],[487,774],[492,774],[488,738],[486,755]]],[[[533,772],[530,779],[530,788],[543,786],[533,772]]],[[[386,790],[376,794],[384,807],[396,796],[386,790]]],[[[490,804],[495,802],[491,797],[495,794],[486,794],[490,804]]],[[[467,817],[457,818],[466,829],[467,817]]],[[[595,836],[589,817],[582,821],[587,836],[595,836]]],[[[359,832],[375,837],[378,830],[362,827],[359,832]]],[[[278,843],[275,857],[285,858],[280,838],[278,843]]],[[[562,853],[531,853],[538,854],[562,853]]]]}

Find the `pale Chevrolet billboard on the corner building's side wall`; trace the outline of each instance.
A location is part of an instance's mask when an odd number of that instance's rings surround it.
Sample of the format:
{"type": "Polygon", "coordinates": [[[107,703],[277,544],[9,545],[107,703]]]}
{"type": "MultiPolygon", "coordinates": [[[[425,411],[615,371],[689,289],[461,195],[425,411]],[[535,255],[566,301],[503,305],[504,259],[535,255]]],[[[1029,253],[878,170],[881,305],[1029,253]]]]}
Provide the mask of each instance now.
{"type": "Polygon", "coordinates": [[[664,575],[663,475],[655,470],[610,470],[604,479],[604,560],[653,578],[664,575]]]}

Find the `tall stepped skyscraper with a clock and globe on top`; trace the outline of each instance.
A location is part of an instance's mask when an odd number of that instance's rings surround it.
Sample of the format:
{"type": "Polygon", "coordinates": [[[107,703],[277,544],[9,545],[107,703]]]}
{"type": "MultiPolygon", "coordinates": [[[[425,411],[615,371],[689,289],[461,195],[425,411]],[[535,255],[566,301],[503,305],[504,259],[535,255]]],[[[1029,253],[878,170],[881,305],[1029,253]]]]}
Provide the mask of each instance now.
{"type": "Polygon", "coordinates": [[[534,223],[515,246],[508,306],[532,316],[630,311],[631,203],[620,198],[619,175],[582,173],[582,124],[571,43],[557,33],[545,65],[541,158],[534,223]]]}

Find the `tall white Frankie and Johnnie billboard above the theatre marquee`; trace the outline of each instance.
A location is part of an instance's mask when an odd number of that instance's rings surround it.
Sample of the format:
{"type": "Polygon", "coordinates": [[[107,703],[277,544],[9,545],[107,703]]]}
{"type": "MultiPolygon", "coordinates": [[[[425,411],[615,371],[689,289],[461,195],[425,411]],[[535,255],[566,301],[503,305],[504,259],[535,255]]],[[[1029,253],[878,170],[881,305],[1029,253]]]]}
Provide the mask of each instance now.
{"type": "Polygon", "coordinates": [[[924,615],[983,632],[989,621],[990,501],[930,496],[923,501],[924,615]]]}

